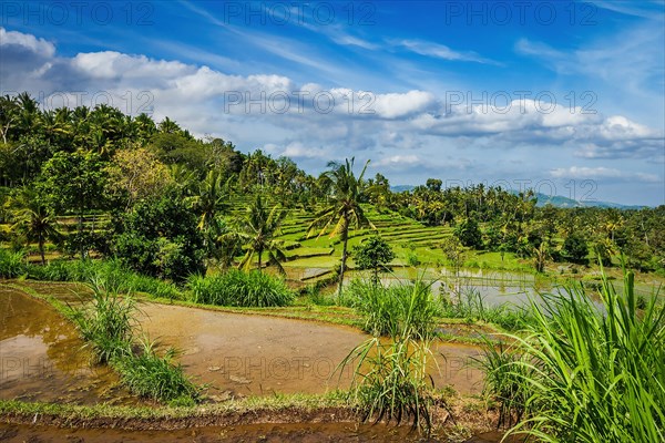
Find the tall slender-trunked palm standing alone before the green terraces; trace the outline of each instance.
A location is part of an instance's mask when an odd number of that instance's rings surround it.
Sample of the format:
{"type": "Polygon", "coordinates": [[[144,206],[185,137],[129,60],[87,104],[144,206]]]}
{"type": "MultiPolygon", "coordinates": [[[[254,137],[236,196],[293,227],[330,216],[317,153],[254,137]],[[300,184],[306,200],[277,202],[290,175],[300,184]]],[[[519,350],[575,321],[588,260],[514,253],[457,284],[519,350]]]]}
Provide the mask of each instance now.
{"type": "Polygon", "coordinates": [[[349,227],[359,228],[364,225],[369,225],[376,229],[374,224],[365,216],[365,212],[360,206],[361,196],[364,194],[365,171],[369,161],[365,164],[362,172],[358,177],[354,174],[354,159],[345,163],[330,162],[328,163],[329,171],[326,171],[323,176],[329,181],[331,185],[331,195],[328,206],[316,214],[314,222],[307,229],[309,236],[314,229],[320,228],[319,237],[328,230],[331,224],[335,228],[330,233],[330,237],[339,235],[341,248],[341,266],[339,268],[339,287],[338,296],[341,296],[341,285],[344,282],[344,272],[346,270],[347,246],[349,240],[349,227]]]}

